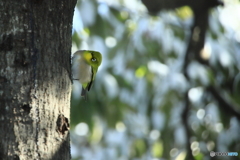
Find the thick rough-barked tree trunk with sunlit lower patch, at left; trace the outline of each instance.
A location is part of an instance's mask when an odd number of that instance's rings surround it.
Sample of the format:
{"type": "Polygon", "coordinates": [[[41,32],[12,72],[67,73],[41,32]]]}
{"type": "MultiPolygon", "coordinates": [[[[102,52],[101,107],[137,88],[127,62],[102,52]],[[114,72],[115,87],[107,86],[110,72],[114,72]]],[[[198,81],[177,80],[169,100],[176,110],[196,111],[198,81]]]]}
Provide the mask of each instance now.
{"type": "Polygon", "coordinates": [[[75,4],[0,1],[0,160],[70,159],[75,4]]]}

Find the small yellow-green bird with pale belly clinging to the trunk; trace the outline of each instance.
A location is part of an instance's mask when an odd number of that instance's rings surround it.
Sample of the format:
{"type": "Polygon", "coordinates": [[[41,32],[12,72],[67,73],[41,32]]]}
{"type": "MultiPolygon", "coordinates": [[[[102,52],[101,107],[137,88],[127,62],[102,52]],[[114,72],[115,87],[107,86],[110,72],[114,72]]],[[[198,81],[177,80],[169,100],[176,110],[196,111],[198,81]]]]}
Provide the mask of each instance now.
{"type": "Polygon", "coordinates": [[[102,63],[102,55],[96,51],[79,50],[72,58],[73,80],[82,84],[81,96],[86,98],[87,91],[91,89],[96,77],[98,67],[102,63]]]}

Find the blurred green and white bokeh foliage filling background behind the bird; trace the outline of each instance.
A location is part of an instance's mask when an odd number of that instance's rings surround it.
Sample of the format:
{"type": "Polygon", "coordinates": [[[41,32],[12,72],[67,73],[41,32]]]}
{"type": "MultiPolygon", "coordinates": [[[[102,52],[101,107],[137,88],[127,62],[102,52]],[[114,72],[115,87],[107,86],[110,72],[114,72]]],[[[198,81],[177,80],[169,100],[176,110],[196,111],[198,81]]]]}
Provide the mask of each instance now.
{"type": "MultiPolygon", "coordinates": [[[[100,51],[103,63],[88,99],[74,81],[71,101],[72,159],[196,160],[210,151],[240,154],[240,4],[224,1],[210,11],[203,65],[182,66],[193,23],[187,7],[150,16],[138,0],[79,0],[72,53],[100,51]],[[186,94],[187,126],[182,116],[186,94]],[[189,135],[186,134],[189,128],[189,135]],[[190,144],[187,144],[187,142],[190,144]]],[[[240,157],[218,157],[239,159],[240,157]]]]}

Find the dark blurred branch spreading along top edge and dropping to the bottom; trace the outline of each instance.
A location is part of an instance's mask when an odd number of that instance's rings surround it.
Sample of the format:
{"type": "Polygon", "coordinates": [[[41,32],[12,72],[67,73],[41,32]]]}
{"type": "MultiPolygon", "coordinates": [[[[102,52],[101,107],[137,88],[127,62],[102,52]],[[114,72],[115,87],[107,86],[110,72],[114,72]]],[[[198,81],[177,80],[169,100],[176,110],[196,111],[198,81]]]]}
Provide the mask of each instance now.
{"type": "MultiPolygon", "coordinates": [[[[186,79],[191,85],[191,81],[187,74],[187,67],[189,62],[192,60],[197,60],[202,64],[208,64],[207,61],[201,58],[200,51],[204,47],[205,43],[205,33],[208,27],[208,15],[209,9],[218,5],[223,5],[222,2],[218,0],[142,0],[143,4],[147,7],[149,13],[156,14],[162,9],[175,9],[184,5],[190,6],[194,13],[194,23],[191,27],[191,36],[189,37],[189,42],[187,45],[183,73],[186,79]]],[[[215,92],[214,92],[215,93],[215,92]]],[[[215,95],[216,96],[216,95],[215,95]]],[[[219,98],[219,97],[218,97],[219,98]]],[[[182,122],[186,132],[187,140],[187,157],[186,159],[194,159],[191,150],[191,130],[188,125],[188,115],[190,107],[190,102],[188,98],[188,90],[185,93],[185,106],[182,112],[182,122]]]]}

